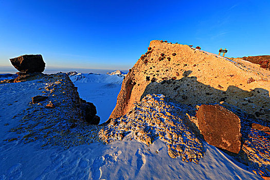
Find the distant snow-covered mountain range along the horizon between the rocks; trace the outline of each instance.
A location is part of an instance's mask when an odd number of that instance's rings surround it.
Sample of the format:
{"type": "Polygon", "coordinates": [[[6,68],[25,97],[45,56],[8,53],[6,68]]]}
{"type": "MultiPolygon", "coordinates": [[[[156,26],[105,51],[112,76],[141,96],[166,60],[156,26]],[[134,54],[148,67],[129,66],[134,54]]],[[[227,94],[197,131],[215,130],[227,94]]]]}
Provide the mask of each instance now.
{"type": "MultiPolygon", "coordinates": [[[[114,72],[113,72],[114,73],[114,72]]],[[[122,84],[124,76],[122,74],[82,74],[76,72],[68,73],[71,81],[75,82],[98,82],[98,83],[113,83],[113,84],[122,84]]]]}

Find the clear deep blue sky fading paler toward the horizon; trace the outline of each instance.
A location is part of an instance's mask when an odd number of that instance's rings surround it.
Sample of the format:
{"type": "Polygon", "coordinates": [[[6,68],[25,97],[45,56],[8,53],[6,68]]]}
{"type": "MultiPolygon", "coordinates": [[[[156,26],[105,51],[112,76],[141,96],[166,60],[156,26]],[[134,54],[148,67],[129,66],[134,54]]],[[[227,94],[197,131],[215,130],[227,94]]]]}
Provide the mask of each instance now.
{"type": "Polygon", "coordinates": [[[269,0],[0,0],[0,66],[41,54],[46,66],[128,69],[151,40],[269,55],[269,9],[269,0]]]}

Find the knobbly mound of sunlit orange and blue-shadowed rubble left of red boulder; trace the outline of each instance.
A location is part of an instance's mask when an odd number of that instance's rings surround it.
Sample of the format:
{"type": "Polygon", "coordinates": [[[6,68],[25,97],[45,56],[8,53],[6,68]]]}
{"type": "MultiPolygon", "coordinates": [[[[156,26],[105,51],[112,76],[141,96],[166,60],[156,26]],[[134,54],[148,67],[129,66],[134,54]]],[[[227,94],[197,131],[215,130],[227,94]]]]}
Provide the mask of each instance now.
{"type": "Polygon", "coordinates": [[[186,125],[182,109],[176,109],[163,95],[147,95],[126,115],[112,119],[99,136],[106,143],[122,140],[128,134],[131,139],[151,145],[154,140],[164,141],[172,158],[199,163],[204,156],[202,142],[186,125]],[[179,112],[182,112],[179,113],[179,112]]]}

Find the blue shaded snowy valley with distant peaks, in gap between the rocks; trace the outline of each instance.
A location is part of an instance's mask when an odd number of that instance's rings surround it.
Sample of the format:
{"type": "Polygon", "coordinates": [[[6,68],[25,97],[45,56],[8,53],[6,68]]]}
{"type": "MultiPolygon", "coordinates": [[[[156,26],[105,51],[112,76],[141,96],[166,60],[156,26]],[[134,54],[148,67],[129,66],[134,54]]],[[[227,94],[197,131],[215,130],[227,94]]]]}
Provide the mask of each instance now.
{"type": "Polygon", "coordinates": [[[121,71],[113,72],[111,75],[79,73],[69,78],[78,87],[80,97],[95,104],[100,123],[109,119],[124,78],[121,71]]]}

